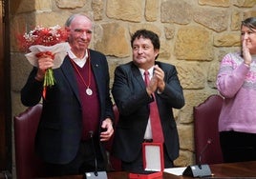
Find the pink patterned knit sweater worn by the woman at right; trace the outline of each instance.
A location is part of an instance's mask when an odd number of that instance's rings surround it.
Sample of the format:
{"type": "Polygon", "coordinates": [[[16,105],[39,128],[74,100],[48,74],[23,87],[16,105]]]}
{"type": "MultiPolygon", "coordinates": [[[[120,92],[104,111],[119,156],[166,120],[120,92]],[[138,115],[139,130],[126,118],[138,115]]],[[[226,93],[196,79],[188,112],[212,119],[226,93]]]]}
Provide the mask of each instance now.
{"type": "Polygon", "coordinates": [[[226,54],[217,76],[217,88],[224,96],[219,131],[256,133],[256,55],[248,67],[239,52],[226,54]]]}

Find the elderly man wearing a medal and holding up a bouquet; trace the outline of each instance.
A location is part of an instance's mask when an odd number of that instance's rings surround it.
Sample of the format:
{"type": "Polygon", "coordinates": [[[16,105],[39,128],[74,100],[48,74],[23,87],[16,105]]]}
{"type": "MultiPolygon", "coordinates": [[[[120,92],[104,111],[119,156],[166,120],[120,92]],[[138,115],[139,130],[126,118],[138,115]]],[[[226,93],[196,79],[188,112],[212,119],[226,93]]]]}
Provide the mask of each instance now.
{"type": "MultiPolygon", "coordinates": [[[[92,21],[86,15],[74,14],[66,29],[71,50],[60,68],[53,70],[56,83],[43,99],[35,140],[36,152],[52,176],[94,171],[96,162],[98,170],[106,169],[102,143],[114,132],[107,60],[102,53],[88,49],[92,21]]],[[[45,71],[52,67],[51,56],[38,59],[38,67],[32,69],[21,90],[25,106],[40,101],[45,71]]]]}

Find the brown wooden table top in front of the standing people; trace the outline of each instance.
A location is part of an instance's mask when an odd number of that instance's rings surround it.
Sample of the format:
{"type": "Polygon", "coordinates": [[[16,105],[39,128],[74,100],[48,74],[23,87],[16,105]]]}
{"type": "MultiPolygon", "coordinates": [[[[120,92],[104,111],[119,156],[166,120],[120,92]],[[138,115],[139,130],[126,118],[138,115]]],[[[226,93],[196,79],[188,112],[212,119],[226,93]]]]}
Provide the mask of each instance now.
{"type": "MultiPolygon", "coordinates": [[[[213,176],[207,178],[245,178],[253,177],[256,178],[256,161],[252,162],[241,162],[241,163],[229,163],[229,164],[214,164],[210,165],[210,169],[213,176]]],[[[108,172],[108,179],[128,179],[128,173],[125,171],[108,172]]],[[[50,177],[47,179],[84,179],[81,175],[74,176],[62,176],[62,177],[50,177]]],[[[187,176],[176,176],[170,173],[163,173],[162,177],[155,179],[191,179],[192,177],[187,176]]],[[[204,177],[205,178],[205,177],[204,177]]]]}

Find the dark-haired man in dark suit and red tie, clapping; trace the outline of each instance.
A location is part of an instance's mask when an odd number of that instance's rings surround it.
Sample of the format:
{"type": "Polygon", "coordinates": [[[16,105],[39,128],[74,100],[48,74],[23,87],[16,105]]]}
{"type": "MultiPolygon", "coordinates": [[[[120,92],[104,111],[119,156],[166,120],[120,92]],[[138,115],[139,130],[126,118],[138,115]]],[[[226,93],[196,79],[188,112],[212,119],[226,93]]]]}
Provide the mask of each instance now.
{"type": "Polygon", "coordinates": [[[122,169],[143,170],[142,143],[154,141],[149,105],[157,102],[163,134],[164,166],[173,167],[179,156],[179,136],[173,108],[184,106],[184,97],[175,66],[156,61],[160,51],[159,36],[150,30],[138,30],[131,39],[133,61],[115,70],[112,89],[119,110],[113,153],[122,169]],[[145,85],[144,71],[150,81],[145,85]],[[151,125],[151,126],[150,126],[151,125]]]}

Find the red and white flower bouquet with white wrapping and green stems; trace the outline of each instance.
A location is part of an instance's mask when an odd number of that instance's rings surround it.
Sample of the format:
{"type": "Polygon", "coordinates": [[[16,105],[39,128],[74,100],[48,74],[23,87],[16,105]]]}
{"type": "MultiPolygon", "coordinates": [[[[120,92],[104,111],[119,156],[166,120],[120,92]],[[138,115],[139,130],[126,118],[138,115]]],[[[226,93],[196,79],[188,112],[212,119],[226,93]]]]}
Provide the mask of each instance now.
{"type": "MultiPolygon", "coordinates": [[[[19,48],[28,52],[25,56],[32,66],[38,67],[38,58],[50,56],[53,58],[53,69],[60,67],[70,49],[69,43],[66,42],[67,38],[67,31],[58,25],[50,28],[37,26],[34,30],[17,36],[19,48]]],[[[48,69],[45,73],[44,98],[47,88],[51,88],[55,84],[53,69],[48,69]]]]}

